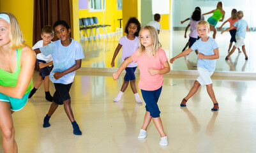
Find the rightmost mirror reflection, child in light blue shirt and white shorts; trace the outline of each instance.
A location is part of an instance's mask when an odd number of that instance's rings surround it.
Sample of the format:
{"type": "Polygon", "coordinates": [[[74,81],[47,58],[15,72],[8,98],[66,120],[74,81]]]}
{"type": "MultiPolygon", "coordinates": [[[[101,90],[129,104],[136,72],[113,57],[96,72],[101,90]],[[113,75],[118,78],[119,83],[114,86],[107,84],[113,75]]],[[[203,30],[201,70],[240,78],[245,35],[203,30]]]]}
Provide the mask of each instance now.
{"type": "MultiPolygon", "coordinates": [[[[235,22],[228,29],[225,29],[225,31],[229,31],[230,29],[237,27],[236,43],[235,43],[234,47],[232,48],[232,50],[230,51],[230,53],[225,58],[226,60],[229,59],[230,55],[232,55],[235,52],[236,48],[241,47],[241,46],[242,46],[243,53],[245,54],[245,60],[248,60],[248,56],[246,55],[244,40],[245,40],[246,31],[249,31],[249,27],[248,27],[246,20],[243,20],[243,16],[244,16],[243,11],[237,11],[237,17],[239,18],[239,20],[237,20],[237,22],[235,22]]],[[[225,31],[222,31],[222,34],[225,31]]]]}

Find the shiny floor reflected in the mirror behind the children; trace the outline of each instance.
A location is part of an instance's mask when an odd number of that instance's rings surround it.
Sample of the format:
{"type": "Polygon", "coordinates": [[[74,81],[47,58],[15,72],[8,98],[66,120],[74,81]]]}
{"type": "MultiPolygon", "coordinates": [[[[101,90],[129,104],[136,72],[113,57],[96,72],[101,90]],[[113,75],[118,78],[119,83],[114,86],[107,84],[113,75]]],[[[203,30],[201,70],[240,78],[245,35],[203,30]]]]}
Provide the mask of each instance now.
{"type": "MultiPolygon", "coordinates": [[[[209,33],[212,36],[213,32],[209,33]]],[[[256,32],[247,32],[245,39],[246,53],[249,57],[248,61],[245,60],[245,55],[243,52],[238,53],[236,50],[234,54],[230,56],[229,60],[225,60],[227,56],[230,34],[224,33],[220,34],[220,31],[216,34],[216,41],[219,46],[220,59],[216,61],[216,71],[245,71],[250,73],[255,73],[256,65],[256,45],[253,43],[253,39],[256,37],[256,32]]],[[[92,40],[82,43],[84,54],[86,56],[82,61],[82,67],[84,68],[111,68],[111,61],[119,43],[120,36],[114,35],[109,36],[109,38],[101,38],[101,40],[92,40]]],[[[186,45],[188,38],[184,38],[184,31],[173,31],[170,33],[168,31],[161,31],[159,35],[160,43],[162,43],[162,48],[165,50],[168,59],[174,57],[183,50],[186,45]]],[[[234,43],[233,43],[234,45],[234,43]]],[[[121,50],[116,57],[115,68],[121,65],[121,50]]],[[[188,60],[184,57],[177,59],[174,64],[171,65],[172,70],[196,70],[197,69],[197,56],[195,52],[191,52],[188,55],[188,60]]]]}

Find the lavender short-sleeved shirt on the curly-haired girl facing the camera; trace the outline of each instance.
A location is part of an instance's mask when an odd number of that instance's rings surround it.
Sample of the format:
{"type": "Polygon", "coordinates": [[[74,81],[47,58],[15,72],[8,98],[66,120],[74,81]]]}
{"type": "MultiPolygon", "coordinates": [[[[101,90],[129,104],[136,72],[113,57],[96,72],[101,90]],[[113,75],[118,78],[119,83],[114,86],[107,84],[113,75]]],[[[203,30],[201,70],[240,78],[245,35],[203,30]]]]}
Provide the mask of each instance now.
{"type": "MultiPolygon", "coordinates": [[[[137,36],[135,36],[134,40],[129,40],[127,36],[123,36],[119,40],[119,44],[123,46],[122,50],[122,62],[124,62],[124,59],[126,57],[130,57],[133,52],[135,52],[139,46],[140,46],[140,41],[137,36]]],[[[135,62],[130,63],[127,67],[128,68],[134,68],[137,67],[138,64],[135,62]]]]}

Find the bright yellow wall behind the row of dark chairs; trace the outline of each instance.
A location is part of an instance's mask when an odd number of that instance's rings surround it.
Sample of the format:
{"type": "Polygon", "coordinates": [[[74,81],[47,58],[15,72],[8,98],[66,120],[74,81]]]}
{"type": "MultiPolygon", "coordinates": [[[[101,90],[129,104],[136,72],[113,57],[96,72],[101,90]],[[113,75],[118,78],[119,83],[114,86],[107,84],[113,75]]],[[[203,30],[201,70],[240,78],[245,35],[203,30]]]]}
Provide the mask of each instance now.
{"type": "MultiPolygon", "coordinates": [[[[116,27],[119,27],[117,18],[122,18],[122,10],[117,10],[116,0],[106,0],[105,2],[105,11],[89,12],[89,9],[79,10],[79,18],[97,17],[99,24],[111,25],[111,32],[113,33],[116,31],[116,27]]],[[[109,27],[107,30],[109,33],[109,27]]],[[[100,33],[102,33],[101,29],[100,33]]]]}

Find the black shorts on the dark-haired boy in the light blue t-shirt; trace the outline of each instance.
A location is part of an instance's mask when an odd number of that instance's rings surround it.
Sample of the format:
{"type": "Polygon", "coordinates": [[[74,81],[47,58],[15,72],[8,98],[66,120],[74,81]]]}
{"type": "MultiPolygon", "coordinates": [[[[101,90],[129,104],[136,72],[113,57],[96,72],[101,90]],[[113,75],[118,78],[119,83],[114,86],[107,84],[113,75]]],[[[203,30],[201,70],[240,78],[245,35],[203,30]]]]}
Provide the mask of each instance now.
{"type": "Polygon", "coordinates": [[[70,88],[71,84],[56,84],[54,83],[54,87],[56,91],[54,92],[54,96],[52,101],[58,105],[63,105],[63,101],[70,99],[70,88]]]}

